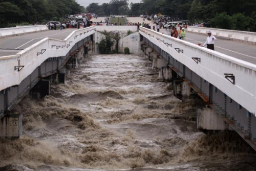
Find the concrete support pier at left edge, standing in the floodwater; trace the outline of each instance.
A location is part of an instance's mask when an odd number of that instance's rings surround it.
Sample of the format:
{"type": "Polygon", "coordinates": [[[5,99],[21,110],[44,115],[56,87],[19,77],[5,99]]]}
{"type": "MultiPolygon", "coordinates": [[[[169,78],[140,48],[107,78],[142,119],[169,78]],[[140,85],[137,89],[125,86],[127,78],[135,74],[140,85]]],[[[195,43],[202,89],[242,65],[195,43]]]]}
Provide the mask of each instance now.
{"type": "Polygon", "coordinates": [[[0,137],[17,139],[22,136],[22,114],[9,114],[0,119],[0,137]]]}

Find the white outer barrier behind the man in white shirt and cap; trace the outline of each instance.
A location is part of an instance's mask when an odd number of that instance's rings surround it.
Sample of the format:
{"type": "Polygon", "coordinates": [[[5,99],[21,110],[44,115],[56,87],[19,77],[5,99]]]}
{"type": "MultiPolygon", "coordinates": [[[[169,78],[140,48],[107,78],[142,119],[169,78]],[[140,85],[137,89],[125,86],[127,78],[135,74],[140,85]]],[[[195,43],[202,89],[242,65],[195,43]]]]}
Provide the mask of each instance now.
{"type": "Polygon", "coordinates": [[[205,27],[194,27],[188,26],[187,31],[194,33],[207,34],[207,31],[211,31],[212,35],[224,37],[231,40],[248,42],[250,44],[256,44],[256,33],[248,31],[238,31],[238,30],[224,30],[215,28],[205,28],[205,27]]]}

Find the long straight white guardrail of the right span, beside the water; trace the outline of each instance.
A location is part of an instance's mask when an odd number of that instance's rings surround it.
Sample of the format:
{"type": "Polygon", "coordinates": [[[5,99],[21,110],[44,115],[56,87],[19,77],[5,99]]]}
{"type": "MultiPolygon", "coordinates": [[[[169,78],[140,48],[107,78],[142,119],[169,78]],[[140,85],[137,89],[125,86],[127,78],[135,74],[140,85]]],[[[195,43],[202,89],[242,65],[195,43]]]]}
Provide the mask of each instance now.
{"type": "Polygon", "coordinates": [[[255,115],[255,65],[143,27],[140,34],[255,115]],[[201,61],[195,62],[195,57],[201,61]],[[232,74],[236,83],[232,84],[224,74],[232,74]]]}

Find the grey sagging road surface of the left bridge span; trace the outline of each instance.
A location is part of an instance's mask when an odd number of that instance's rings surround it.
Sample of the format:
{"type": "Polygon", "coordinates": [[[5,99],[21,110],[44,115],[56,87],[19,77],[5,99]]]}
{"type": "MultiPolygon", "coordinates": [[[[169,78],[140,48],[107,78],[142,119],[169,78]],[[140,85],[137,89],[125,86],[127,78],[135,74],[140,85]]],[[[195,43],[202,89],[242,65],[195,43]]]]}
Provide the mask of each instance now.
{"type": "Polygon", "coordinates": [[[0,39],[0,57],[7,55],[15,55],[16,53],[20,52],[20,50],[26,49],[29,46],[35,44],[36,42],[46,37],[65,39],[74,30],[76,29],[67,29],[62,31],[48,30],[43,32],[29,33],[21,36],[13,36],[0,39]]]}

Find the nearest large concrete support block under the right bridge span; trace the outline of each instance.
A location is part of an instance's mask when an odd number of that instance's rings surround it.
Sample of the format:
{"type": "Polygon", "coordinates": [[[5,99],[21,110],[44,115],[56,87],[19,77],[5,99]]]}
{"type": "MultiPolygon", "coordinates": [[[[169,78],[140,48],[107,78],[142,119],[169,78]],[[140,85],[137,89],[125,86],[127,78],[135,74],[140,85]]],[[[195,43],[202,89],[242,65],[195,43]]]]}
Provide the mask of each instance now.
{"type": "MultiPolygon", "coordinates": [[[[228,130],[228,124],[211,108],[198,109],[197,128],[199,130],[228,130]]],[[[231,129],[230,129],[231,130],[231,129]]]]}

